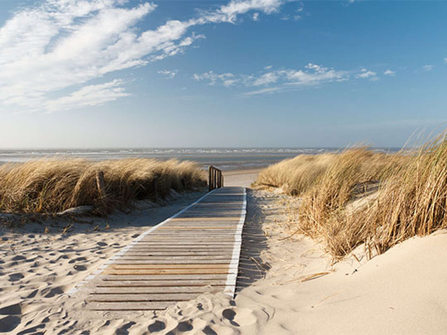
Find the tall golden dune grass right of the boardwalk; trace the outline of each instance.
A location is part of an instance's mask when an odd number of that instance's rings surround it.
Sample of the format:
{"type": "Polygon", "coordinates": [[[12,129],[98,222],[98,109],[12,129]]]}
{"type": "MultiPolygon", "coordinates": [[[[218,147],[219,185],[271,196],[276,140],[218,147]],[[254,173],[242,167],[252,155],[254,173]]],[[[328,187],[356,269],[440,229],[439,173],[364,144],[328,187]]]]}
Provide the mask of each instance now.
{"type": "Polygon", "coordinates": [[[380,254],[409,237],[447,227],[446,133],[411,153],[350,148],[300,155],[262,171],[253,186],[265,185],[301,198],[296,229],[323,242],[334,260],[361,243],[369,255],[380,254]],[[371,184],[378,186],[374,197],[356,205],[362,188],[371,184]]]}

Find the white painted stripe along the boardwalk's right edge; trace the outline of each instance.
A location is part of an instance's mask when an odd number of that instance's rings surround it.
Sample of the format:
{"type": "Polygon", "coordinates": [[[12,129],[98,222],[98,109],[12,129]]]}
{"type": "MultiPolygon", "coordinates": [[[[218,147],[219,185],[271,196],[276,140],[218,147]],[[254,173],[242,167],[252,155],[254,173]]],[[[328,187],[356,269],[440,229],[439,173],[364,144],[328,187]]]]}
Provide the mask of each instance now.
{"type": "Polygon", "coordinates": [[[247,215],[247,189],[244,188],[244,200],[242,201],[242,209],[240,210],[240,219],[234,234],[234,247],[231,257],[230,266],[228,268],[227,281],[223,293],[228,294],[234,298],[236,291],[237,272],[239,268],[240,247],[242,246],[242,228],[245,223],[245,216],[247,215]]]}

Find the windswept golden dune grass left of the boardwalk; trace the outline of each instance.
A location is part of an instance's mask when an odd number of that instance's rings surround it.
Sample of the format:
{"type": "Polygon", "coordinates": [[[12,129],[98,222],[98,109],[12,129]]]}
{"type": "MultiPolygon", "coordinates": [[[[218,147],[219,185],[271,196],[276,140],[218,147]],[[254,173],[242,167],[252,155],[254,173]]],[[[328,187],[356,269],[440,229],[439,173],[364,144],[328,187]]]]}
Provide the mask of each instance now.
{"type": "Polygon", "coordinates": [[[93,205],[98,214],[127,209],[132,201],[165,197],[171,188],[187,191],[206,185],[205,173],[193,162],[175,159],[42,159],[0,166],[0,210],[53,214],[93,205]],[[105,194],[96,173],[102,171],[105,194]]]}

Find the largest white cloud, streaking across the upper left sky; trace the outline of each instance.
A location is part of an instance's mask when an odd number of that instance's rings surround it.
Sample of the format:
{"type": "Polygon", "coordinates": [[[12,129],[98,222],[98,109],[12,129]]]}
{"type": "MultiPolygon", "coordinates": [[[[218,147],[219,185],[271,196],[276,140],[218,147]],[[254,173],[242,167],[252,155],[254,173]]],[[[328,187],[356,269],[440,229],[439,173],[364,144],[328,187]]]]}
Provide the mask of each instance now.
{"type": "MultiPolygon", "coordinates": [[[[156,4],[125,3],[46,0],[13,13],[0,27],[0,108],[25,111],[53,106],[55,110],[58,104],[49,96],[61,89],[79,94],[82,85],[110,72],[181,54],[204,38],[189,33],[194,26],[235,23],[250,11],[274,13],[282,0],[232,0],[190,20],[169,20],[143,32],[137,23],[156,10],[156,4]]],[[[103,99],[98,98],[98,103],[103,99]]]]}

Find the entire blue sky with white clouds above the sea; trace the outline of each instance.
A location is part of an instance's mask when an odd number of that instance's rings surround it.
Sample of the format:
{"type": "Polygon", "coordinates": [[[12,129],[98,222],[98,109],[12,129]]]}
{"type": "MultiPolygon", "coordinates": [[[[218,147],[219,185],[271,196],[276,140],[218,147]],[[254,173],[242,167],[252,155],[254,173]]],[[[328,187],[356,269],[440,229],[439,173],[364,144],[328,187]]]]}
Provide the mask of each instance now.
{"type": "Polygon", "coordinates": [[[447,1],[0,0],[0,148],[400,147],[447,1]]]}

